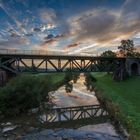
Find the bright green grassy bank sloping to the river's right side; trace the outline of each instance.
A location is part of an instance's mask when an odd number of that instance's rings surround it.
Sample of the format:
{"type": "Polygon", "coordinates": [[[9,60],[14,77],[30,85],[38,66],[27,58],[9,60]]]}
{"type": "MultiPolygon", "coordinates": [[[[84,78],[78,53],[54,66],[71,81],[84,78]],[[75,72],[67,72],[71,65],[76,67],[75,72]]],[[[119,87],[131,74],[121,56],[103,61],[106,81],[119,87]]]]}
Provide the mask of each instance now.
{"type": "Polygon", "coordinates": [[[92,73],[97,79],[96,90],[112,117],[131,133],[131,139],[140,139],[140,77],[115,82],[106,73],[92,73]],[[135,137],[136,136],[136,137],[135,137]]]}

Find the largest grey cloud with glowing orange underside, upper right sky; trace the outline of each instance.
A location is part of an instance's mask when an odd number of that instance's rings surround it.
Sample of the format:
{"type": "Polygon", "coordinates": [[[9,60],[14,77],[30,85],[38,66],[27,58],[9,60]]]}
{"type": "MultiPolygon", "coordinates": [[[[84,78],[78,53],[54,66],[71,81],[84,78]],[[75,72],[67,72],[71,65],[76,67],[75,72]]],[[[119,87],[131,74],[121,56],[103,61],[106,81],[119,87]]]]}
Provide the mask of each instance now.
{"type": "MultiPolygon", "coordinates": [[[[94,8],[68,19],[74,42],[97,43],[98,48],[114,48],[122,39],[140,33],[140,1],[126,0],[119,9],[94,8]]],[[[86,47],[86,46],[85,46],[86,47]]]]}

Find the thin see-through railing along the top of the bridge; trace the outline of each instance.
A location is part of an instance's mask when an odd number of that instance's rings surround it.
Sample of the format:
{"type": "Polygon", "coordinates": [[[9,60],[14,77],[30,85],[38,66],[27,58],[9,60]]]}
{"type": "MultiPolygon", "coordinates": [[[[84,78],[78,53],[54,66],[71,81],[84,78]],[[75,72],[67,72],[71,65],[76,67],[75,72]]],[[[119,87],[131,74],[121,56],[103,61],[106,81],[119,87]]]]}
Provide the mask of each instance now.
{"type": "Polygon", "coordinates": [[[0,54],[13,54],[13,55],[73,55],[73,56],[99,56],[97,53],[72,53],[64,50],[60,51],[47,51],[47,50],[19,50],[19,49],[0,49],[0,54]]]}

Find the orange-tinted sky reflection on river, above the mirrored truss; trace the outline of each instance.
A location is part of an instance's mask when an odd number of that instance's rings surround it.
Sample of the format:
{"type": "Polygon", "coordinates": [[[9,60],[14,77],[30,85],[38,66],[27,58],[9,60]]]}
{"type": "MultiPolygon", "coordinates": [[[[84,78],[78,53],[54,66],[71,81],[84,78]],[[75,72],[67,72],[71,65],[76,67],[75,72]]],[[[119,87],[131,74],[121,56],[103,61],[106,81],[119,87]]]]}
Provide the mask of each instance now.
{"type": "Polygon", "coordinates": [[[60,87],[56,92],[53,93],[52,102],[57,107],[70,107],[70,106],[84,106],[99,104],[95,92],[90,92],[85,86],[85,76],[80,74],[79,79],[76,83],[73,83],[73,90],[67,93],[65,86],[60,87]]]}

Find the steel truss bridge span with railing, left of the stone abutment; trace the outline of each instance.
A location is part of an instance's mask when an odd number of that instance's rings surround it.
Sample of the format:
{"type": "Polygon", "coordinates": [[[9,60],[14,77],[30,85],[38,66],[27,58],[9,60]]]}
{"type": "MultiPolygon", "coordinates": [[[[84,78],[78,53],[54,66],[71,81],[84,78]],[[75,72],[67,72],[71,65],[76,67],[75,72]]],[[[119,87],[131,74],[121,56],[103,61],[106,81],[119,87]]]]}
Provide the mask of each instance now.
{"type": "Polygon", "coordinates": [[[125,65],[125,58],[0,50],[0,69],[11,73],[106,72],[125,65]]]}

